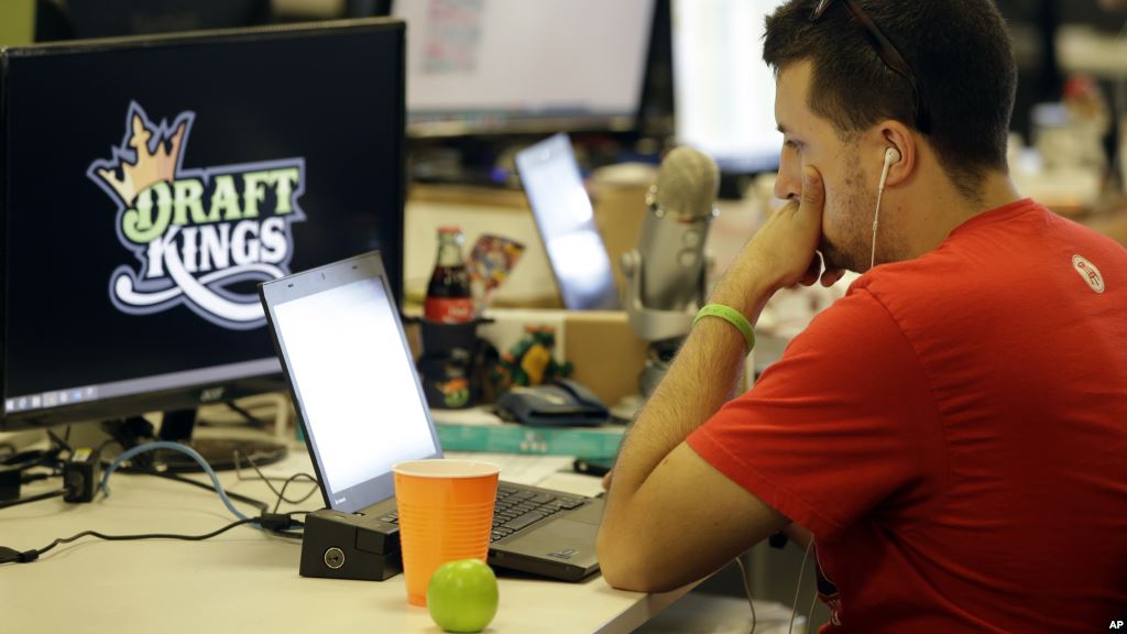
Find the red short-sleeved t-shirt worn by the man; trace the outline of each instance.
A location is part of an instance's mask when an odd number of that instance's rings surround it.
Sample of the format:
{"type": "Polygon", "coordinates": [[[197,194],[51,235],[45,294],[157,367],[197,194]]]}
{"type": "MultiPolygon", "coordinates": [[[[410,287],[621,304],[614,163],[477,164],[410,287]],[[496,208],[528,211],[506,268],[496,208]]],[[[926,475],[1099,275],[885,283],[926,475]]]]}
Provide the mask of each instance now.
{"type": "Polygon", "coordinates": [[[878,266],[689,438],[815,535],[823,632],[1127,609],[1127,250],[1024,200],[878,266]]]}

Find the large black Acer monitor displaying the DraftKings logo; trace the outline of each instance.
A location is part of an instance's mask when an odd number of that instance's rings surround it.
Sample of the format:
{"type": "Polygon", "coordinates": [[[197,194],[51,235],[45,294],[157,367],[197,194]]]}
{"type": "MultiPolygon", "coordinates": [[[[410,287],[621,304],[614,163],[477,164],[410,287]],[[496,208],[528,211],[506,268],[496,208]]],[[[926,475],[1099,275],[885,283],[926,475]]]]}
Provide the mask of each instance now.
{"type": "Polygon", "coordinates": [[[0,430],[284,390],[265,280],[380,249],[401,300],[401,21],[0,56],[0,430]]]}

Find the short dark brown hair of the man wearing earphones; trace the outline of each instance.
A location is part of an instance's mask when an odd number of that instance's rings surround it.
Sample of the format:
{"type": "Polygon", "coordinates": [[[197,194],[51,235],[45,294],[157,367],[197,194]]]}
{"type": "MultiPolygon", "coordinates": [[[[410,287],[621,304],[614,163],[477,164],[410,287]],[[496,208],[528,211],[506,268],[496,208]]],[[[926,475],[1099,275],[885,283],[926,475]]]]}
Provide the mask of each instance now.
{"type": "Polygon", "coordinates": [[[916,125],[912,85],[881,60],[866,28],[837,0],[791,0],[767,17],[763,60],[779,72],[813,64],[808,106],[843,139],[885,118],[926,134],[959,192],[977,200],[984,171],[1006,169],[1018,70],[1005,21],[991,0],[852,0],[912,67],[930,111],[916,125]]]}

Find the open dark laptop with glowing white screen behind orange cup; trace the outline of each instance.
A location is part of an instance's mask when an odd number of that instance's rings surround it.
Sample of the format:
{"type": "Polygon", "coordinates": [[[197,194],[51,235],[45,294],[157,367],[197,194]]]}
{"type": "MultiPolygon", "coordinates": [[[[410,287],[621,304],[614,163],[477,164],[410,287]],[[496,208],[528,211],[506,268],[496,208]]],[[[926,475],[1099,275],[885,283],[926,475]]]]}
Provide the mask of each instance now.
{"type": "MultiPolygon", "coordinates": [[[[259,287],[327,507],[398,547],[391,466],[442,447],[379,252],[259,287]]],[[[488,562],[579,581],[598,570],[603,501],[502,481],[488,562]]]]}

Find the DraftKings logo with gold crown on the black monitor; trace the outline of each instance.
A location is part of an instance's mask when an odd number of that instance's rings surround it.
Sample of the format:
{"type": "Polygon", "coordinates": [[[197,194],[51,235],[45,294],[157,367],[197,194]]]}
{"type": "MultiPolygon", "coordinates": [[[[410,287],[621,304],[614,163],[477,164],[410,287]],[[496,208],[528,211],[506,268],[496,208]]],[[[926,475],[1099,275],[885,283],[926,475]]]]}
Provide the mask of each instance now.
{"type": "Polygon", "coordinates": [[[133,102],[113,158],[87,169],[117,203],[117,239],[136,259],[123,256],[109,298],[132,315],[184,305],[227,328],[257,328],[265,317],[252,283],[290,274],[305,160],[185,168],[195,118],[154,123],[133,102]]]}

